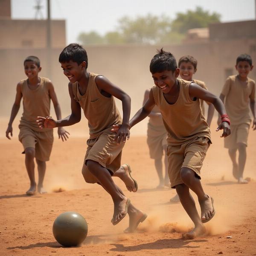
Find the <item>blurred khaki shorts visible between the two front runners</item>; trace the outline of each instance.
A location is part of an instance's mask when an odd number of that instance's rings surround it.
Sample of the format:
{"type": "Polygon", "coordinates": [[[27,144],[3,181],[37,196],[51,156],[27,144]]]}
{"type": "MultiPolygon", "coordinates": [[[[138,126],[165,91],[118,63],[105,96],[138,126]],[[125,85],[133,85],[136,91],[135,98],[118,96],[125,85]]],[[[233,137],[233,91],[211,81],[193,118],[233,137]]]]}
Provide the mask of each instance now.
{"type": "Polygon", "coordinates": [[[149,155],[152,159],[159,159],[163,156],[163,149],[167,147],[167,132],[163,129],[160,129],[160,131],[153,130],[148,125],[148,137],[147,137],[147,143],[149,148],[149,155]]]}

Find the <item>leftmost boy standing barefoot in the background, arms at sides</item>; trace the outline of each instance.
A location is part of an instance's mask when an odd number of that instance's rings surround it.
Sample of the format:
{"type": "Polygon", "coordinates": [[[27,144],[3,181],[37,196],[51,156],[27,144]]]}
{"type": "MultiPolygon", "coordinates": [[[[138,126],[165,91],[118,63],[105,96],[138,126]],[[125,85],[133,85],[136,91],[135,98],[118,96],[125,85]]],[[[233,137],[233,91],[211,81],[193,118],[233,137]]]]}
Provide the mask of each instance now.
{"type": "MultiPolygon", "coordinates": [[[[52,82],[44,77],[39,77],[41,71],[38,57],[29,56],[24,60],[24,71],[28,79],[21,80],[17,84],[15,102],[12,107],[10,121],[6,130],[6,137],[11,140],[12,123],[20,109],[20,101],[23,98],[23,114],[20,119],[19,140],[23,145],[25,153],[25,165],[29,175],[30,188],[26,195],[34,195],[35,191],[46,193],[43,187],[46,171],[46,161],[52,151],[53,133],[52,129],[39,129],[35,122],[38,115],[50,115],[50,100],[54,105],[57,119],[61,119],[61,108],[54,91],[52,82]],[[38,165],[38,184],[35,182],[35,164],[38,165]]],[[[62,141],[67,140],[69,134],[64,128],[58,128],[58,136],[62,141]]]]}

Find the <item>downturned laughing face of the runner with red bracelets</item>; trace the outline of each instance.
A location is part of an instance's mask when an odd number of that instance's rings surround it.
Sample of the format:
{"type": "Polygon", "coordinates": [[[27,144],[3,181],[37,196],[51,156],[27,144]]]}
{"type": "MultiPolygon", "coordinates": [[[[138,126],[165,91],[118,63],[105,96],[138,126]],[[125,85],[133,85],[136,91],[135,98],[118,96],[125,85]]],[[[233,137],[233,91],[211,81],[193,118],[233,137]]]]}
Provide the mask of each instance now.
{"type": "Polygon", "coordinates": [[[161,73],[152,74],[154,84],[160,88],[163,93],[169,93],[174,86],[180,70],[177,68],[175,71],[165,70],[161,73]]]}

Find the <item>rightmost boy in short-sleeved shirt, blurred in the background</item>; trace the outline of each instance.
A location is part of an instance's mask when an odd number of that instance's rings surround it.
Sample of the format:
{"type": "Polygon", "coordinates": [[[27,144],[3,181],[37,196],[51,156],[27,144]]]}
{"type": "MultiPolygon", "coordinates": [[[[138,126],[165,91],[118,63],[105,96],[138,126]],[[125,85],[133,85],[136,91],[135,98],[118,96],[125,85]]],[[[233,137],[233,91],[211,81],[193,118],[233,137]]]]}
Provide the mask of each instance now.
{"type": "Polygon", "coordinates": [[[220,99],[227,108],[232,125],[232,134],[224,139],[224,147],[228,148],[228,153],[233,163],[233,176],[239,184],[248,183],[244,180],[244,165],[246,161],[247,138],[250,128],[250,109],[253,114],[253,130],[256,129],[255,119],[255,81],[248,77],[253,69],[250,55],[241,54],[236,59],[236,70],[238,75],[229,76],[222,89],[220,99]],[[238,164],[236,162],[236,151],[239,152],[238,164]]]}

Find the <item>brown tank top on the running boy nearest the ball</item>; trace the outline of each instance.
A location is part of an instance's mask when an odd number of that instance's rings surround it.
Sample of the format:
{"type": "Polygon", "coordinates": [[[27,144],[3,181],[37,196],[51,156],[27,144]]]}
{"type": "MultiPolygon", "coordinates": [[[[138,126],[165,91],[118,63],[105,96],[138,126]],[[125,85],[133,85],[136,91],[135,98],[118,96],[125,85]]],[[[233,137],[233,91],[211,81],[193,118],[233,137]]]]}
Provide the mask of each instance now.
{"type": "Polygon", "coordinates": [[[112,125],[122,124],[121,115],[114,97],[102,95],[96,84],[94,73],[89,73],[89,81],[84,95],[79,91],[79,83],[73,83],[73,93],[88,120],[90,139],[98,137],[102,131],[111,130],[112,125]]]}

